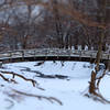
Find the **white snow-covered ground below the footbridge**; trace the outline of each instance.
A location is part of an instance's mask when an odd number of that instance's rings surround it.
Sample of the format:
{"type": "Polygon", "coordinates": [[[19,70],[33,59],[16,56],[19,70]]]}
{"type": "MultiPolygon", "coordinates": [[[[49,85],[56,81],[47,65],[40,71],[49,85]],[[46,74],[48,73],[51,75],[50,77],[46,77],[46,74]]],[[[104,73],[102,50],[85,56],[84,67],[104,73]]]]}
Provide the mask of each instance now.
{"type": "MultiPolygon", "coordinates": [[[[110,105],[84,97],[84,92],[88,90],[88,81],[92,70],[92,65],[89,63],[45,62],[40,66],[37,63],[4,64],[0,68],[1,72],[13,72],[38,82],[33,87],[31,81],[25,81],[16,76],[15,81],[18,84],[7,82],[0,77],[0,110],[110,110],[110,105]],[[42,78],[37,77],[37,73],[48,76],[68,76],[68,78],[42,78]],[[37,99],[36,96],[54,97],[63,105],[57,100],[37,99]]],[[[7,78],[12,77],[12,75],[4,76],[7,78]]],[[[106,76],[101,80],[100,92],[110,100],[110,76],[106,76]]]]}

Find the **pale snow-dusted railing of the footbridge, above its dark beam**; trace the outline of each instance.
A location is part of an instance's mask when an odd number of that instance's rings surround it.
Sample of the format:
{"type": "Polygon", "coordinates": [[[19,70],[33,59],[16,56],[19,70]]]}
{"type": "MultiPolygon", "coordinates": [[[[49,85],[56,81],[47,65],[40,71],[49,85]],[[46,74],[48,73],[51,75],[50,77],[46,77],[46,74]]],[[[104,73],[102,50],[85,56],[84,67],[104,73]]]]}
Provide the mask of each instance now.
{"type": "MultiPolygon", "coordinates": [[[[0,53],[0,59],[9,58],[28,58],[28,57],[81,57],[96,58],[97,51],[78,51],[78,50],[21,50],[0,53]]],[[[110,59],[110,54],[102,52],[101,59],[110,59]]]]}

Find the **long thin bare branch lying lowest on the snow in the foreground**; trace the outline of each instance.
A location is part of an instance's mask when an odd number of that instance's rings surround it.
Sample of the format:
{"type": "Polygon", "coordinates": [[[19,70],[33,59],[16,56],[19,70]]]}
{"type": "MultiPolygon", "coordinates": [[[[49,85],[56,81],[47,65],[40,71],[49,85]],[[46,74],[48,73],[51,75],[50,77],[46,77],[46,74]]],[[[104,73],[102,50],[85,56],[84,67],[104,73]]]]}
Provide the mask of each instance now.
{"type": "Polygon", "coordinates": [[[19,95],[26,96],[26,97],[37,98],[40,100],[46,99],[46,100],[48,100],[52,103],[55,101],[55,102],[59,103],[61,106],[63,106],[63,102],[61,100],[54,98],[54,97],[45,97],[45,96],[32,95],[32,94],[22,92],[22,91],[15,90],[15,89],[12,89],[12,91],[14,91],[14,92],[16,92],[19,95]]]}

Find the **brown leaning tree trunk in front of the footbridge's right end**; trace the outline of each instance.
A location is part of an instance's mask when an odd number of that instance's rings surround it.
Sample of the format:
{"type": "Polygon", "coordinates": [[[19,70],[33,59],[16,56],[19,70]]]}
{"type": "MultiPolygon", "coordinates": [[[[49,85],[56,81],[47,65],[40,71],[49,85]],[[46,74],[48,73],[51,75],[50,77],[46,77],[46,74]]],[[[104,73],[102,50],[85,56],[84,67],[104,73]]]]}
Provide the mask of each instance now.
{"type": "MultiPolygon", "coordinates": [[[[107,0],[103,0],[103,2],[100,4],[100,13],[99,13],[99,22],[100,23],[105,23],[106,22],[106,4],[107,4],[107,0]]],[[[105,29],[100,29],[100,36],[99,36],[99,44],[98,44],[98,53],[97,53],[97,57],[96,57],[96,68],[95,72],[92,70],[91,73],[91,81],[89,85],[89,94],[94,94],[94,95],[98,95],[96,92],[96,76],[97,73],[99,70],[99,64],[100,64],[100,59],[101,59],[101,55],[102,55],[102,44],[103,44],[103,40],[105,40],[105,29]]],[[[100,81],[99,81],[100,82],[100,81]]],[[[98,84],[99,85],[99,84],[98,84]]]]}

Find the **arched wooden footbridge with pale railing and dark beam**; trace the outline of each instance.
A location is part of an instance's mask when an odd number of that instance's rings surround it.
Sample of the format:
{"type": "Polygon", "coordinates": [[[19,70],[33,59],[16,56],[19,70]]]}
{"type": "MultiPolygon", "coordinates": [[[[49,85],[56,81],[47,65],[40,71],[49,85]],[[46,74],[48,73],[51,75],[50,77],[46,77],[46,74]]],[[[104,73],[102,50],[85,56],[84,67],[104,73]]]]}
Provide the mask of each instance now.
{"type": "MultiPolygon", "coordinates": [[[[95,61],[97,51],[63,48],[35,48],[0,52],[0,62],[21,61],[95,61]]],[[[102,52],[101,61],[110,61],[110,54],[102,52]]]]}

